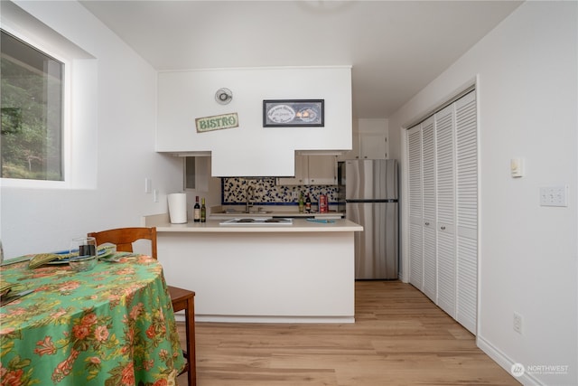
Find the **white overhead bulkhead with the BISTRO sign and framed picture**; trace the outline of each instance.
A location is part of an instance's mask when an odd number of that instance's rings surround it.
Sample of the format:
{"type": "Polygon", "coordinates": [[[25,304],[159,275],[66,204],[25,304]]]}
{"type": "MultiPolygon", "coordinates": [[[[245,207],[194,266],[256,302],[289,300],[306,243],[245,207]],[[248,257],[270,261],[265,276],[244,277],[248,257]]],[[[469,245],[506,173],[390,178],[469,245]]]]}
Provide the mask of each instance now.
{"type": "Polygon", "coordinates": [[[340,154],[352,146],[351,66],[166,71],[158,75],[156,151],[211,156],[211,175],[294,175],[295,152],[340,154]],[[227,104],[215,92],[227,88],[227,104]],[[322,99],[323,125],[266,127],[264,100],[322,99]],[[196,119],[236,114],[238,126],[197,130],[196,119]]]}

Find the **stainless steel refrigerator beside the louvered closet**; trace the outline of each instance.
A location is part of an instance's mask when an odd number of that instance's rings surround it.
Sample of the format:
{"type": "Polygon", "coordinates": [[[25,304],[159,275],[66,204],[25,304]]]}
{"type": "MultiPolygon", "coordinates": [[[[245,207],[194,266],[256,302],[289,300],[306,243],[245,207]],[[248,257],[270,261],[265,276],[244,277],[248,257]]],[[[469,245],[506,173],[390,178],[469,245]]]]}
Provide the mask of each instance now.
{"type": "Polygon", "coordinates": [[[355,278],[395,279],[399,265],[397,161],[344,164],[340,177],[346,217],[363,225],[363,231],[355,232],[355,278]]]}

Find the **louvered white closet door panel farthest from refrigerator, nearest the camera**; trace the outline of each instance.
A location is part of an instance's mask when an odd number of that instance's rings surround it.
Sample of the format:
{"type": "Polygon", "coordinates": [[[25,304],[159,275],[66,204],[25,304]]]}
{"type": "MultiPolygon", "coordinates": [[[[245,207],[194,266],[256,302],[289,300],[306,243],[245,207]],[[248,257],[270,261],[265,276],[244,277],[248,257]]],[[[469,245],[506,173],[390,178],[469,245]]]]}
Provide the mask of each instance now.
{"type": "Polygon", "coordinates": [[[456,319],[476,334],[478,307],[478,125],[476,95],[456,101],[456,319]]]}

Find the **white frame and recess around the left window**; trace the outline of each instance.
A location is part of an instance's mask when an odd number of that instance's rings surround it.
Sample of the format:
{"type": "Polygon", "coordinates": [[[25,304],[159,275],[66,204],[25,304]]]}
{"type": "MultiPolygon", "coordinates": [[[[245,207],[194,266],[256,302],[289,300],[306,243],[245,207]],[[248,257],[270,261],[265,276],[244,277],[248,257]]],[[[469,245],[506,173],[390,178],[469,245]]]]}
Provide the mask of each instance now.
{"type": "Polygon", "coordinates": [[[0,178],[0,186],[40,189],[95,189],[97,185],[97,61],[17,5],[2,5],[2,29],[61,61],[63,181],[0,178]],[[72,96],[74,95],[74,101],[72,96]],[[76,128],[76,132],[72,127],[76,128]]]}

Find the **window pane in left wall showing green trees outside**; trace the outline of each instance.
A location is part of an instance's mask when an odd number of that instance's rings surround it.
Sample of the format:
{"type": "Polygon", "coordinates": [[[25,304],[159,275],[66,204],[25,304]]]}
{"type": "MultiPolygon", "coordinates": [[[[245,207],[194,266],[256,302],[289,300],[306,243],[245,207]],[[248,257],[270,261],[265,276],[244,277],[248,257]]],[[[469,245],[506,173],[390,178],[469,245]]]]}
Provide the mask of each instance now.
{"type": "Polygon", "coordinates": [[[63,181],[64,64],[1,33],[1,177],[63,181]]]}

